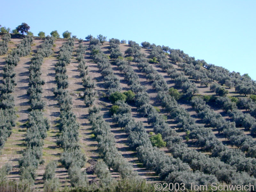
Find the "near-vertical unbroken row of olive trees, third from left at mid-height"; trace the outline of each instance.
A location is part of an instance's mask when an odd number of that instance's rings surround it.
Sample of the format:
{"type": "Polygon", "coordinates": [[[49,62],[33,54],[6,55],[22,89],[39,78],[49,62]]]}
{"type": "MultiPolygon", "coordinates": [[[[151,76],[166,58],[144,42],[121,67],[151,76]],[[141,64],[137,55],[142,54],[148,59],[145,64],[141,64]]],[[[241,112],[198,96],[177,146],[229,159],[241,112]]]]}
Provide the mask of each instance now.
{"type": "Polygon", "coordinates": [[[64,149],[61,154],[60,162],[68,170],[68,176],[72,186],[86,186],[86,172],[81,171],[86,157],[81,152],[79,146],[79,123],[76,115],[72,112],[72,98],[67,90],[68,76],[66,66],[70,63],[74,48],[74,39],[69,38],[60,48],[58,62],[55,64],[55,79],[57,88],[54,94],[60,105],[59,130],[60,135],[57,139],[57,145],[64,149]]]}

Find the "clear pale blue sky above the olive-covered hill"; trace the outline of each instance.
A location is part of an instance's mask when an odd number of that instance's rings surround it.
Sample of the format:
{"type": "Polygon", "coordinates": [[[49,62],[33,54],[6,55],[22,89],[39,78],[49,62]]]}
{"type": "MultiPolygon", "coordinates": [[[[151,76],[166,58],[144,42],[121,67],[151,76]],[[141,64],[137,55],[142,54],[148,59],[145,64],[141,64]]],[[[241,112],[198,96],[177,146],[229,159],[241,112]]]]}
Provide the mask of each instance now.
{"type": "Polygon", "coordinates": [[[148,41],[256,80],[256,1],[3,1],[0,24],[22,22],[37,35],[70,31],[78,38],[148,41]]]}

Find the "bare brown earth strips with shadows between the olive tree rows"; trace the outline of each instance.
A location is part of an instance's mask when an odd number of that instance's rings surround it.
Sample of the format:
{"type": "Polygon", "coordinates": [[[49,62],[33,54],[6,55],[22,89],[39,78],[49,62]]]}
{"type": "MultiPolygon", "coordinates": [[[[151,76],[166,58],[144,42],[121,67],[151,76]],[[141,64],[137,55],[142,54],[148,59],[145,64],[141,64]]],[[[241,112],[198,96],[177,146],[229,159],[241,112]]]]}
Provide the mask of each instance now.
{"type": "MultiPolygon", "coordinates": [[[[21,39],[11,39],[11,41],[8,44],[9,50],[8,53],[10,53],[11,49],[15,48],[17,44],[19,44],[21,39]]],[[[25,149],[25,134],[26,134],[26,127],[23,125],[28,120],[28,113],[29,113],[29,100],[27,95],[27,89],[28,89],[28,67],[30,64],[30,59],[33,57],[33,54],[35,54],[36,50],[38,49],[38,46],[42,43],[42,40],[34,40],[32,47],[31,47],[31,54],[26,57],[21,57],[20,62],[17,67],[15,67],[16,72],[16,87],[14,92],[12,93],[14,95],[15,99],[15,109],[17,111],[17,125],[12,130],[12,135],[7,139],[4,148],[1,150],[2,154],[0,156],[0,166],[4,163],[9,162],[13,165],[12,172],[8,175],[8,178],[10,179],[19,179],[19,168],[18,168],[18,160],[22,156],[22,150],[25,149]]],[[[44,58],[44,63],[41,67],[42,75],[41,78],[44,79],[45,84],[43,85],[43,94],[42,98],[45,101],[45,109],[43,111],[44,116],[47,117],[50,120],[51,128],[47,132],[47,138],[44,140],[44,147],[43,147],[43,159],[45,163],[43,165],[39,165],[37,169],[37,177],[35,180],[35,187],[39,188],[39,190],[42,190],[43,188],[43,180],[42,176],[45,170],[46,164],[48,164],[51,160],[59,160],[60,155],[63,152],[63,150],[56,145],[56,139],[57,135],[59,134],[59,129],[57,127],[58,118],[60,115],[60,109],[59,105],[57,103],[57,100],[54,98],[53,95],[53,89],[56,87],[56,81],[55,81],[55,69],[54,64],[57,62],[57,55],[60,50],[60,47],[62,43],[64,42],[63,39],[56,40],[54,44],[56,46],[53,47],[53,55],[44,58]]],[[[84,41],[83,44],[89,46],[87,41],[84,41]]],[[[75,48],[73,52],[73,57],[71,59],[71,63],[67,66],[67,75],[68,75],[68,82],[69,87],[68,91],[70,95],[72,96],[72,102],[73,102],[73,112],[75,113],[77,117],[77,121],[80,123],[80,129],[79,129],[79,138],[80,138],[80,145],[82,152],[86,155],[87,159],[99,159],[99,154],[97,152],[97,141],[95,137],[93,137],[92,134],[92,128],[90,125],[90,122],[88,121],[88,107],[85,106],[83,99],[81,99],[78,95],[79,93],[83,92],[84,87],[82,86],[82,80],[79,76],[79,70],[78,70],[78,63],[75,60],[76,59],[76,48],[78,46],[78,42],[75,42],[75,48]]],[[[108,50],[109,44],[108,42],[105,42],[104,45],[101,46],[101,50],[105,54],[109,54],[108,50]]],[[[129,45],[127,44],[120,44],[120,50],[124,54],[124,51],[129,48],[129,45]]],[[[150,54],[150,50],[142,48],[141,51],[145,53],[147,56],[150,54]]],[[[8,54],[7,53],[7,54],[8,54]]],[[[3,79],[3,67],[5,65],[5,57],[7,54],[0,56],[0,81],[3,79]]],[[[97,64],[94,63],[90,57],[90,51],[87,50],[85,54],[85,61],[86,65],[88,65],[89,70],[89,76],[92,77],[92,79],[96,83],[95,90],[98,92],[98,97],[95,100],[95,104],[101,106],[101,113],[103,114],[104,119],[109,123],[111,126],[111,132],[113,133],[115,140],[116,140],[116,147],[118,148],[119,152],[122,154],[122,156],[133,165],[133,170],[137,171],[138,174],[147,179],[147,180],[158,180],[158,177],[156,174],[152,171],[147,170],[143,165],[138,161],[138,158],[136,156],[136,151],[132,151],[128,147],[128,141],[127,137],[128,135],[124,132],[123,129],[116,126],[111,119],[111,116],[109,115],[109,109],[112,106],[112,104],[109,102],[108,99],[104,98],[104,94],[106,90],[103,87],[103,79],[100,75],[100,70],[97,67],[97,64]]],[[[171,61],[170,61],[171,62],[171,61]]],[[[140,78],[140,82],[142,85],[146,87],[146,91],[148,92],[150,96],[150,104],[160,109],[160,114],[165,115],[168,117],[167,123],[172,127],[175,128],[177,124],[175,121],[170,117],[164,109],[161,107],[159,101],[156,100],[156,91],[152,87],[152,82],[149,82],[145,75],[139,71],[137,68],[136,63],[131,62],[131,66],[133,70],[138,74],[140,78]]],[[[159,65],[152,64],[153,68],[155,68],[165,79],[166,83],[172,87],[174,86],[174,83],[172,79],[168,76],[168,74],[163,71],[159,65]]],[[[181,70],[176,64],[173,63],[173,66],[177,70],[181,70]]],[[[129,87],[127,86],[127,82],[124,80],[124,74],[119,71],[117,66],[111,65],[114,73],[116,76],[120,79],[120,85],[123,89],[123,91],[129,90],[129,87]]],[[[190,77],[189,77],[190,78],[190,77]]],[[[190,78],[191,79],[191,78],[190,78]]],[[[194,81],[193,79],[191,79],[194,81]]],[[[199,89],[200,94],[202,95],[212,95],[214,94],[209,90],[209,87],[201,87],[200,83],[194,81],[199,89]]],[[[232,96],[239,96],[234,88],[228,89],[229,95],[232,96]]],[[[197,118],[195,110],[191,107],[188,103],[181,103],[179,104],[184,107],[189,114],[195,118],[196,123],[202,124],[202,121],[197,118]]],[[[147,131],[153,131],[152,126],[148,125],[147,118],[141,116],[137,113],[137,108],[135,106],[132,107],[132,116],[136,119],[136,121],[142,121],[147,131]]],[[[229,117],[221,110],[220,108],[212,107],[212,109],[216,113],[220,113],[225,119],[229,119],[229,117]]],[[[239,128],[244,131],[245,134],[250,134],[247,130],[244,130],[244,128],[239,128]]],[[[185,142],[185,132],[182,132],[178,129],[176,129],[178,134],[183,137],[183,140],[185,142]]],[[[213,133],[216,135],[216,137],[223,142],[223,144],[228,145],[229,148],[231,146],[229,145],[228,140],[226,140],[222,133],[218,133],[215,129],[212,128],[213,133]]],[[[254,139],[256,139],[254,137],[254,139]]],[[[194,148],[198,150],[193,141],[188,142],[188,146],[191,148],[194,148]]],[[[161,148],[161,150],[165,151],[168,155],[171,155],[168,153],[167,148],[161,148]]],[[[199,149],[200,150],[200,149],[199,149]]],[[[90,163],[86,163],[83,169],[90,168],[92,165],[90,163]]],[[[111,170],[111,174],[113,177],[118,177],[118,173],[113,172],[111,170]]],[[[67,170],[61,166],[61,164],[58,164],[58,167],[56,169],[56,177],[59,178],[61,186],[70,185],[69,179],[68,179],[68,173],[67,170]]],[[[88,174],[87,175],[89,180],[93,180],[96,178],[96,175],[88,174]]]]}

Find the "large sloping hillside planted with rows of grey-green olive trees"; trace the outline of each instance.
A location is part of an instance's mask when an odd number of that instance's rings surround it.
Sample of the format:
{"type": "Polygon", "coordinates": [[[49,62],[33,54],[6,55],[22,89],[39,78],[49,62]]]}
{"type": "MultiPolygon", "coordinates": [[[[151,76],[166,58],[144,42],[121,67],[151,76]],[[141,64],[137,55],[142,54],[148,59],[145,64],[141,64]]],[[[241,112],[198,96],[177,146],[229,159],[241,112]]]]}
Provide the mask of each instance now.
{"type": "MultiPolygon", "coordinates": [[[[47,38],[33,39],[29,54],[13,65],[9,108],[17,119],[0,156],[1,166],[12,165],[9,179],[30,180],[42,191],[46,165],[56,160],[52,174],[61,187],[98,182],[94,169],[101,161],[113,178],[256,184],[256,86],[248,76],[147,42],[141,47],[117,39],[101,44],[96,38],[59,38],[44,50],[47,38]],[[131,100],[111,99],[129,90],[131,100]],[[44,120],[32,119],[33,112],[44,120]],[[34,126],[40,134],[34,131],[32,142],[27,138],[34,126]],[[165,143],[156,147],[151,139],[158,133],[165,143]],[[33,163],[26,163],[28,156],[35,156],[33,163]]],[[[11,38],[0,56],[2,84],[7,59],[21,40],[11,38]]],[[[3,87],[0,100],[6,110],[3,87]]]]}

